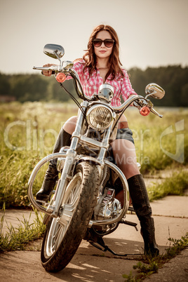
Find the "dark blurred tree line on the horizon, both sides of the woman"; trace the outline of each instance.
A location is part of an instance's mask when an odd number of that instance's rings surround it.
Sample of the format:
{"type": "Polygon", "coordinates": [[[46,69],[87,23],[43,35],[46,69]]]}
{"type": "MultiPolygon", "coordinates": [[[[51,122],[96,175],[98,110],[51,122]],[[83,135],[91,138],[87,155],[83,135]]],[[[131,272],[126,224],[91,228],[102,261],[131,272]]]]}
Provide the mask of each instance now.
{"type": "MultiPolygon", "coordinates": [[[[145,95],[145,86],[159,84],[166,95],[162,101],[155,100],[156,106],[188,107],[188,67],[170,65],[148,67],[145,70],[134,67],[128,70],[130,81],[136,93],[145,95]]],[[[76,97],[72,80],[63,85],[76,97]]],[[[40,74],[1,74],[0,97],[13,97],[19,102],[26,101],[68,101],[69,95],[58,85],[53,76],[40,74]]]]}

